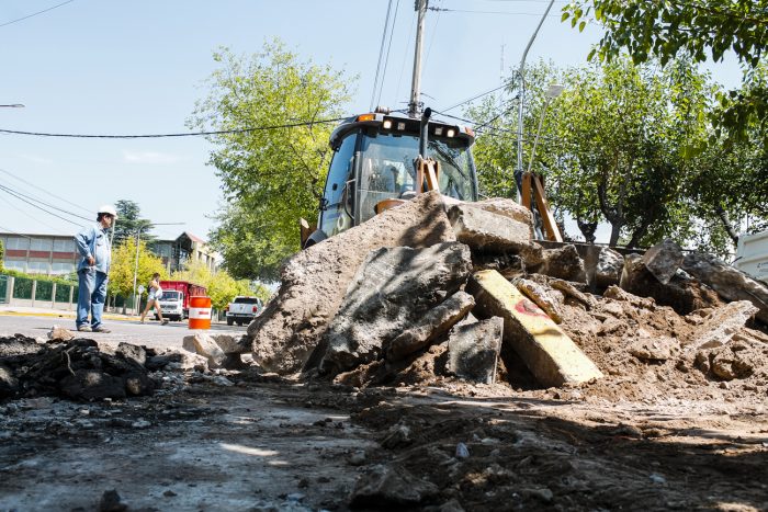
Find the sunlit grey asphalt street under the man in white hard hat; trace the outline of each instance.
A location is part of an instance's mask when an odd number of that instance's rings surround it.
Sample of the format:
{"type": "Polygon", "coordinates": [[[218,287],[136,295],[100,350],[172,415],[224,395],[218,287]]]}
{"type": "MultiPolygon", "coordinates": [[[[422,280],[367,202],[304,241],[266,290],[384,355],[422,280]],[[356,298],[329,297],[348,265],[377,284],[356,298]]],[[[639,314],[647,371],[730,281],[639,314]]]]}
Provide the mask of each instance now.
{"type": "MultiPolygon", "coordinates": [[[[47,332],[54,325],[58,325],[66,329],[75,331],[75,320],[68,316],[21,316],[21,315],[0,315],[0,335],[13,335],[16,333],[37,338],[46,338],[47,332]]],[[[109,334],[97,332],[81,332],[81,338],[89,338],[99,342],[108,342],[117,344],[120,342],[135,343],[150,348],[181,348],[181,343],[185,335],[193,333],[188,329],[187,322],[169,322],[161,326],[157,321],[139,323],[138,320],[106,320],[104,327],[112,332],[109,334]]],[[[228,327],[226,323],[214,323],[211,326],[211,331],[217,334],[234,334],[241,335],[246,332],[244,327],[228,327]]]]}

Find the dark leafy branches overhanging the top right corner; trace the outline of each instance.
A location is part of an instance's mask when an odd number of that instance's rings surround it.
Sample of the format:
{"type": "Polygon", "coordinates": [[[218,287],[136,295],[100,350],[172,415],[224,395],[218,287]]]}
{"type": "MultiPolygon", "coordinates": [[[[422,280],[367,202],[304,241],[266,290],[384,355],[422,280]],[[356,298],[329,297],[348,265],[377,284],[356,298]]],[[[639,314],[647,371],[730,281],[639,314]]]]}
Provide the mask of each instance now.
{"type": "Polygon", "coordinates": [[[562,19],[584,30],[590,14],[606,30],[590,57],[610,60],[626,50],[635,64],[658,58],[666,65],[682,54],[703,62],[733,52],[749,87],[721,93],[712,117],[739,139],[749,124],[765,125],[768,87],[755,72],[768,48],[768,0],[575,0],[562,19]]]}

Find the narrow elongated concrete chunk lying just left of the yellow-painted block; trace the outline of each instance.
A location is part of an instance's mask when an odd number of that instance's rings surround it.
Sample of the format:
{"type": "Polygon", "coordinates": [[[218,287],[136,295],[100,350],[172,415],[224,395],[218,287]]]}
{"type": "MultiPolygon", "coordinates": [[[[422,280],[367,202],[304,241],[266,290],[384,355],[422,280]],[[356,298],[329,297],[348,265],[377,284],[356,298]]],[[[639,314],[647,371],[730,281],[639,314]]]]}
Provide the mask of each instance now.
{"type": "Polygon", "coordinates": [[[474,306],[475,299],[472,295],[456,292],[417,320],[414,327],[392,340],[386,349],[386,357],[391,361],[398,361],[423,349],[433,340],[448,332],[474,306]]]}

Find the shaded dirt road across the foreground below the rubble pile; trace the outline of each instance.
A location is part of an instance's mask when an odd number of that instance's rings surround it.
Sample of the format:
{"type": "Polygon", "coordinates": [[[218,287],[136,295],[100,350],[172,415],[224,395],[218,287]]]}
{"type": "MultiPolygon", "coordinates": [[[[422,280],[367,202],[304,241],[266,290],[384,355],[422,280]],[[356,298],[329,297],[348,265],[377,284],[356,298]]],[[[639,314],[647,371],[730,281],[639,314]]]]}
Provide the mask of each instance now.
{"type": "Polygon", "coordinates": [[[93,510],[110,489],[129,510],[347,510],[377,465],[433,483],[411,503],[423,510],[768,508],[760,407],[230,378],[171,378],[125,402],[4,403],[2,510],[93,510]]]}

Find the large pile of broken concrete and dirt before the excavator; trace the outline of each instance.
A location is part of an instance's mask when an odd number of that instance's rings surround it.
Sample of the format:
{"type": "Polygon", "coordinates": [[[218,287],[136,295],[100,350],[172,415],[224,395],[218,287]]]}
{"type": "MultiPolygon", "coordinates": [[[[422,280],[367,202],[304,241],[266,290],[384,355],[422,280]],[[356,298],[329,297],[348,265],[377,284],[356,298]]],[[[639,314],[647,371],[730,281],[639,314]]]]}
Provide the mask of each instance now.
{"type": "Polygon", "coordinates": [[[626,255],[545,248],[512,201],[445,201],[423,194],[296,254],[240,350],[355,387],[599,389],[651,371],[768,389],[764,284],[670,240],[626,255]]]}

